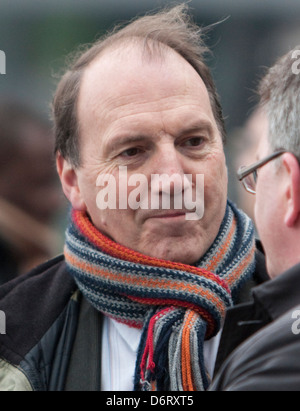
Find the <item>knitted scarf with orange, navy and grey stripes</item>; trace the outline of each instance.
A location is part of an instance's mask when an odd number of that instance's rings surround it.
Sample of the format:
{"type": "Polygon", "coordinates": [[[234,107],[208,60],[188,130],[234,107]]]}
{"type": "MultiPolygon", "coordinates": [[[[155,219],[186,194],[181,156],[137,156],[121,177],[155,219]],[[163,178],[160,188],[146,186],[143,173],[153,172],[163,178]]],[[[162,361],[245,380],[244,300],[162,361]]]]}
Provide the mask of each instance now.
{"type": "Polygon", "coordinates": [[[228,202],[219,234],[195,266],[160,260],[101,234],[72,211],[65,259],[85,298],[100,312],[142,330],[135,390],[203,391],[210,383],[204,341],[255,268],[251,220],[228,202]]]}

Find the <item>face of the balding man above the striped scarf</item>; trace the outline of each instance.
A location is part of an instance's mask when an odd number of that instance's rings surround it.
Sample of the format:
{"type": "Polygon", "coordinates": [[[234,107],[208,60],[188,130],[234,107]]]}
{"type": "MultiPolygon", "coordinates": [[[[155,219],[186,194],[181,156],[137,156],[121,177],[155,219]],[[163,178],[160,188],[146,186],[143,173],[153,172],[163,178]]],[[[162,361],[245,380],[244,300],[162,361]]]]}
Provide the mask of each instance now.
{"type": "MultiPolygon", "coordinates": [[[[76,175],[94,225],[140,253],[195,263],[218,234],[227,198],[222,139],[196,71],[171,50],[164,58],[144,61],[137,47],[106,52],[84,73],[78,119],[76,175]],[[186,210],[174,207],[100,209],[99,175],[111,174],[118,192],[124,186],[120,167],[127,179],[145,176],[149,198],[151,175],[192,175],[195,195],[196,175],[204,174],[204,216],[189,221],[186,210]]],[[[128,197],[135,188],[127,187],[128,197]]]]}

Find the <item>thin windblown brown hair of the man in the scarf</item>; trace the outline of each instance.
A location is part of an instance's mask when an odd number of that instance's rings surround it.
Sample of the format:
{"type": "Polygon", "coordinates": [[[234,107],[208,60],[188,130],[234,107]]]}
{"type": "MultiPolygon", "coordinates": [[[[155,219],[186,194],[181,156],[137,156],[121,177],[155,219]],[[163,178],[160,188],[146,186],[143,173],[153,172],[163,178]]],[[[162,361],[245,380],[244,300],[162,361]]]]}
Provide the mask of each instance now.
{"type": "Polygon", "coordinates": [[[125,27],[116,27],[88,46],[87,50],[75,55],[60,80],[53,99],[55,152],[60,152],[74,167],[80,165],[77,103],[83,72],[103,51],[120,45],[121,42],[132,41],[133,38],[141,39],[144,51],[148,53],[157,50],[163,53],[165,46],[170,47],[194,67],[207,88],[214,118],[224,141],[225,124],[219,97],[210,70],[204,63],[203,56],[208,52],[203,41],[204,31],[191,21],[187,6],[182,4],[154,15],[140,17],[125,27]]]}

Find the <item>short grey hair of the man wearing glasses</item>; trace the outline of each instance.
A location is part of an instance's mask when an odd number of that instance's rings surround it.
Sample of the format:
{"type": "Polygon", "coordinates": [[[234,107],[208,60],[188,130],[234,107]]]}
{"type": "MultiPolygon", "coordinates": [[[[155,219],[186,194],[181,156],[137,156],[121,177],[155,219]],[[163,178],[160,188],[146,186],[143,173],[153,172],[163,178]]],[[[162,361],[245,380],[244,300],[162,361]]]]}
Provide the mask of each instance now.
{"type": "Polygon", "coordinates": [[[300,46],[281,57],[267,71],[258,94],[260,106],[269,120],[271,150],[285,149],[300,162],[300,73],[296,69],[296,55],[300,55],[300,46]]]}

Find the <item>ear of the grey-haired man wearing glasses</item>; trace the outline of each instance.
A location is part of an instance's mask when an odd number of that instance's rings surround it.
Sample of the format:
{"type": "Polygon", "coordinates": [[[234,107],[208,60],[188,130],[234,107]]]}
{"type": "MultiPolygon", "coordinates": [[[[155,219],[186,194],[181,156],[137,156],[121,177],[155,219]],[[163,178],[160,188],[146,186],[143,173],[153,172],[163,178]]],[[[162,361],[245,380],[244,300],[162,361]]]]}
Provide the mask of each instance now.
{"type": "Polygon", "coordinates": [[[282,162],[287,177],[284,220],[288,227],[293,227],[300,221],[300,166],[297,158],[291,153],[285,153],[282,156],[282,162]]]}

